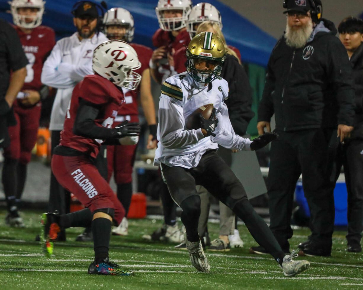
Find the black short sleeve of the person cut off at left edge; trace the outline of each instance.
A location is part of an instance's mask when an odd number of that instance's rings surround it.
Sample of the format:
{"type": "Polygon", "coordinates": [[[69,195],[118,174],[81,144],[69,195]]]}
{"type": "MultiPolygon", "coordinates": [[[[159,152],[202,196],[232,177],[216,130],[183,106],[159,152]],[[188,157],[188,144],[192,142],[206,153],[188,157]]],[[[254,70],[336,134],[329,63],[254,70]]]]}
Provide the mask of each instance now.
{"type": "Polygon", "coordinates": [[[21,45],[18,34],[15,29],[9,25],[6,31],[6,46],[8,51],[9,66],[12,71],[20,70],[28,64],[28,59],[25,56],[23,46],[21,45]]]}

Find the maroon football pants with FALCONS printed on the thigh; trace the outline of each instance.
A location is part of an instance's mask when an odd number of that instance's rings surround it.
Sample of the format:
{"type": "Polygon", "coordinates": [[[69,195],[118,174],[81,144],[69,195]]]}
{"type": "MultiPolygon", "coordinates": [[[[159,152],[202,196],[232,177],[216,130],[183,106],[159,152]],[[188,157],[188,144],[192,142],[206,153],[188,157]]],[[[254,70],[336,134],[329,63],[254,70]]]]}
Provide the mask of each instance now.
{"type": "Polygon", "coordinates": [[[114,220],[121,223],[125,209],[90,158],[53,154],[52,171],[60,185],[72,192],[91,212],[113,208],[114,220]]]}

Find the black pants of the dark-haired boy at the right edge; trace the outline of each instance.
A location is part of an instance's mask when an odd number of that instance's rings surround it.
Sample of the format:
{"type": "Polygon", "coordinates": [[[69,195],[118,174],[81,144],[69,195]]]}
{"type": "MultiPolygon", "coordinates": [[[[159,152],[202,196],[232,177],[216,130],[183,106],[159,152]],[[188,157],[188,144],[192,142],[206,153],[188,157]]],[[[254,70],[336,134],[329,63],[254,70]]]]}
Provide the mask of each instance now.
{"type": "MultiPolygon", "coordinates": [[[[344,141],[339,148],[338,169],[344,166],[348,193],[347,241],[360,243],[363,231],[363,140],[344,141]]],[[[337,178],[339,177],[339,172],[337,178]]]]}

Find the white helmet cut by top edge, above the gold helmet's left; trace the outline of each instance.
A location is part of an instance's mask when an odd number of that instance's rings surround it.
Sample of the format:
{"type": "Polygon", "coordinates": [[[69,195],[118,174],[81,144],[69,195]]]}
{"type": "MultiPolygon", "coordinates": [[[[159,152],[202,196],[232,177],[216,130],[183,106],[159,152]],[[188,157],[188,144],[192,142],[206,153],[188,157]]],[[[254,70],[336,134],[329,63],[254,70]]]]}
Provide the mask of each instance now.
{"type": "Polygon", "coordinates": [[[185,27],[192,5],[191,0],[159,0],[155,12],[160,28],[165,31],[173,31],[185,27]],[[181,17],[166,18],[164,17],[164,11],[167,10],[182,10],[183,15],[181,17]]]}

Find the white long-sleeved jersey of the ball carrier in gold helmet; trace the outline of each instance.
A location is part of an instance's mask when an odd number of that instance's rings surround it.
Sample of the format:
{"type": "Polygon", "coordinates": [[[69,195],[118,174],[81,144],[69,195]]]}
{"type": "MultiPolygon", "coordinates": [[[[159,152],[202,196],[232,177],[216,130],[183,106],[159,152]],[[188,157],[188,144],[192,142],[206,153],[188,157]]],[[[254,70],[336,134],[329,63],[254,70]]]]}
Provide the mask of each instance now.
{"type": "Polygon", "coordinates": [[[228,117],[228,83],[217,78],[207,86],[197,83],[183,72],[166,79],[162,85],[159,102],[159,124],[154,164],[196,167],[208,149],[217,149],[220,144],[225,148],[251,150],[252,141],[234,133],[228,117]],[[197,108],[213,104],[216,109],[218,125],[213,132],[216,137],[204,137],[201,129],[188,130],[185,120],[197,108]]]}

